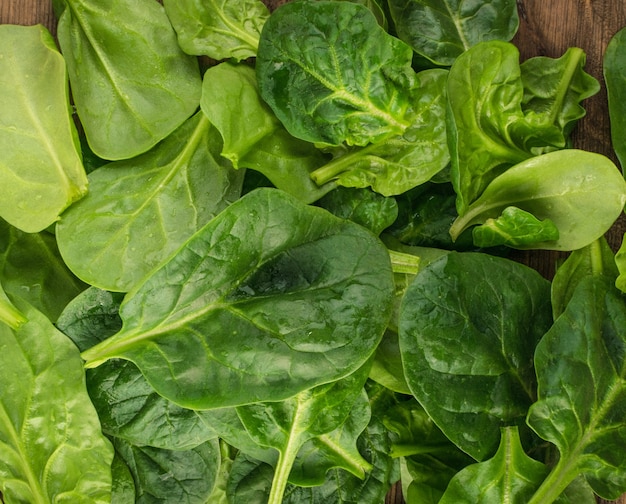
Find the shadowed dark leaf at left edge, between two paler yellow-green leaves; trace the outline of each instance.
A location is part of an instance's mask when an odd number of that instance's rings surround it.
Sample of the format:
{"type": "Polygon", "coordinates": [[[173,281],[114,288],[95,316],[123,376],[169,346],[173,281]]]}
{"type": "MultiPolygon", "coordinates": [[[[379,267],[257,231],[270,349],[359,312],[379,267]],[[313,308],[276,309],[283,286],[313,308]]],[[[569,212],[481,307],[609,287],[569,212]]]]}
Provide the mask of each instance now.
{"type": "Polygon", "coordinates": [[[63,262],[54,235],[25,233],[0,219],[0,280],[7,292],[55,321],[86,286],[63,262]]]}

